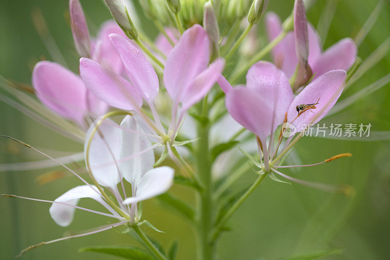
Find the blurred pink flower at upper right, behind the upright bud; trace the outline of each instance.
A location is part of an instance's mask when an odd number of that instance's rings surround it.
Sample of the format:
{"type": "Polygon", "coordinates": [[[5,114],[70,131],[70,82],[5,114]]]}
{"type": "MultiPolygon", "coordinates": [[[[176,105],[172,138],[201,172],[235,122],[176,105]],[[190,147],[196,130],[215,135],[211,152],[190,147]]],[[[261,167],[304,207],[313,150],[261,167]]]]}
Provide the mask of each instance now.
{"type": "MultiPolygon", "coordinates": [[[[269,40],[273,40],[282,31],[280,19],[274,13],[268,13],[266,25],[269,40]]],[[[323,52],[317,32],[308,22],[308,39],[309,54],[307,59],[312,73],[316,74],[315,78],[335,69],[347,71],[356,59],[357,48],[350,38],[338,41],[323,52]]],[[[305,40],[301,39],[301,41],[305,40]]],[[[292,77],[298,64],[295,48],[294,33],[289,32],[272,51],[274,63],[284,71],[288,78],[292,77]]],[[[303,48],[299,48],[297,51],[302,55],[305,52],[303,48]]]]}

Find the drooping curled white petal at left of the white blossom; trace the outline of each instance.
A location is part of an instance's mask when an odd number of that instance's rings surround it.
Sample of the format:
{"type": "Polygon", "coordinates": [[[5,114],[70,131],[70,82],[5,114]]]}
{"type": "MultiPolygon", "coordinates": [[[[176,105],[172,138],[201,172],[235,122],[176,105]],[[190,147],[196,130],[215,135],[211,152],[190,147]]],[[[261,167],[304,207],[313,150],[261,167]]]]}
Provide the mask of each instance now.
{"type": "MultiPolygon", "coordinates": [[[[95,186],[92,187],[95,190],[98,190],[95,186]]],[[[73,189],[68,190],[54,201],[72,204],[76,206],[78,200],[80,200],[81,198],[91,198],[98,201],[103,206],[108,207],[107,203],[101,199],[101,197],[95,190],[93,190],[90,186],[87,185],[77,186],[73,189]]],[[[69,226],[72,222],[73,216],[75,215],[75,210],[76,208],[71,206],[53,203],[49,209],[49,212],[52,219],[59,226],[66,227],[69,226]]]]}

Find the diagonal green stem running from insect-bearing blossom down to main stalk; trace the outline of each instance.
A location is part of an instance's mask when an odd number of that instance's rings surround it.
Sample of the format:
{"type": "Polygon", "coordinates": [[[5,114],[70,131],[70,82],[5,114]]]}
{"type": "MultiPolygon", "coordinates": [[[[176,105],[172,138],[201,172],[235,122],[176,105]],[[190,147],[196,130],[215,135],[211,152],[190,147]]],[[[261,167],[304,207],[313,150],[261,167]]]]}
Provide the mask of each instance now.
{"type": "Polygon", "coordinates": [[[233,216],[234,212],[244,203],[246,199],[254,192],[254,190],[260,185],[260,183],[264,180],[267,173],[264,171],[259,172],[260,176],[257,180],[252,184],[251,187],[233,204],[233,206],[226,212],[226,214],[222,217],[222,219],[218,222],[215,227],[215,231],[213,236],[211,237],[211,242],[214,244],[215,240],[218,238],[219,233],[226,222],[233,216]]]}

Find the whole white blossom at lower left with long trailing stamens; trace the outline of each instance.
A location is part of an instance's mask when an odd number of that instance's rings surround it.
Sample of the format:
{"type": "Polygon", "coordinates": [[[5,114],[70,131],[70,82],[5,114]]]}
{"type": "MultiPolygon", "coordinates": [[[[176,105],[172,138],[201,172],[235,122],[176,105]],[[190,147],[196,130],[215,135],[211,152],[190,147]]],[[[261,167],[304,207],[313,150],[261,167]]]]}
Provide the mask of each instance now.
{"type": "Polygon", "coordinates": [[[120,126],[111,120],[97,120],[88,129],[84,149],[87,169],[95,185],[89,184],[72,171],[85,185],[70,189],[54,201],[15,195],[1,196],[53,203],[49,209],[50,216],[62,227],[71,224],[76,209],[117,219],[119,222],[98,227],[92,232],[42,242],[23,250],[21,254],[43,244],[98,233],[122,224],[140,225],[142,222],[139,222],[137,202],[160,195],[173,184],[172,168],[168,166],[153,168],[155,163],[153,146],[133,116],[126,116],[120,126]],[[123,178],[131,184],[129,196],[123,178]],[[119,183],[120,192],[117,187],[119,183]],[[116,201],[111,199],[105,190],[110,191],[116,201]],[[84,198],[96,200],[109,213],[77,206],[78,201],[84,198]]]}

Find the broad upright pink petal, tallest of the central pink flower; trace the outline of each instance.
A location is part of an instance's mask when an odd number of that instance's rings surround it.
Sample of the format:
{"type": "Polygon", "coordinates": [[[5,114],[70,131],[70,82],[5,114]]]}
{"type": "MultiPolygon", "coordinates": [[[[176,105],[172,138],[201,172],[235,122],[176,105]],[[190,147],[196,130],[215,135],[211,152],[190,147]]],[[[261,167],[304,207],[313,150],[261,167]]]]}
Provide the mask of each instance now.
{"type": "Polygon", "coordinates": [[[200,25],[195,24],[183,33],[165,63],[164,82],[172,99],[207,67],[209,48],[210,40],[200,25]]]}

